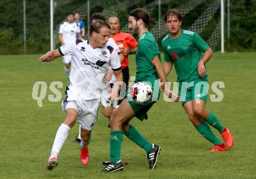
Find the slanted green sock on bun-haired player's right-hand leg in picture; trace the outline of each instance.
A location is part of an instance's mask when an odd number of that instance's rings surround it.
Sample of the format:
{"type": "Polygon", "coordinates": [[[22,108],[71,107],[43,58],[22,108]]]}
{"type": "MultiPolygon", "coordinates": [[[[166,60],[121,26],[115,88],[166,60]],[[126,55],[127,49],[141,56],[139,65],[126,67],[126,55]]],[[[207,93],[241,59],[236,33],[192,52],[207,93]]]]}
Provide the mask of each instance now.
{"type": "Polygon", "coordinates": [[[141,135],[135,127],[130,126],[129,130],[127,130],[125,134],[131,141],[135,144],[143,148],[147,153],[152,149],[152,144],[141,135]]]}

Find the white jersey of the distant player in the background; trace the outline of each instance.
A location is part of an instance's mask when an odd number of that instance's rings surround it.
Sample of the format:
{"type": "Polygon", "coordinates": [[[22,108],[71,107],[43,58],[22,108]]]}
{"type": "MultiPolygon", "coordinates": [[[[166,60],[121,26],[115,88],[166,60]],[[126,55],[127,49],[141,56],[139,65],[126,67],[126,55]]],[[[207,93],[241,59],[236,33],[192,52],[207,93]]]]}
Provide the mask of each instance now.
{"type": "Polygon", "coordinates": [[[59,34],[62,34],[62,38],[65,44],[69,41],[76,40],[76,34],[80,33],[80,27],[76,23],[64,22],[59,26],[59,34]]]}

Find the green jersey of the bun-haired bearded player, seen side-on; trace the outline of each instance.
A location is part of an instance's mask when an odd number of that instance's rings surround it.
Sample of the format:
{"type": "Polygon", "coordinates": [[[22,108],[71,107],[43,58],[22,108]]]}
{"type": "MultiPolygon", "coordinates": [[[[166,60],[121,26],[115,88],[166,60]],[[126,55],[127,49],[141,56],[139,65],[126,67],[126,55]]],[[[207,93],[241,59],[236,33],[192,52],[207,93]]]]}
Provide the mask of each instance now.
{"type": "Polygon", "coordinates": [[[136,52],[136,82],[148,81],[152,84],[152,87],[154,87],[155,80],[158,79],[158,74],[151,60],[157,55],[161,60],[157,41],[155,41],[154,36],[147,31],[138,39],[136,52]]]}

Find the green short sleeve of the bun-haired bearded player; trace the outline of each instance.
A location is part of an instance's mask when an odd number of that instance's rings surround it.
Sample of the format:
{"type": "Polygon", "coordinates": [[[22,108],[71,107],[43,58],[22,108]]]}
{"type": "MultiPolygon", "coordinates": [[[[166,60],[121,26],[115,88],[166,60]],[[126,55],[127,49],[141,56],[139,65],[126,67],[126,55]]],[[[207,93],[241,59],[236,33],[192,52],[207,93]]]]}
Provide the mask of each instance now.
{"type": "Polygon", "coordinates": [[[159,55],[159,49],[156,44],[154,44],[151,40],[140,40],[140,43],[138,44],[138,48],[141,52],[144,53],[144,55],[147,57],[148,60],[152,60],[155,58],[155,56],[159,55]]]}

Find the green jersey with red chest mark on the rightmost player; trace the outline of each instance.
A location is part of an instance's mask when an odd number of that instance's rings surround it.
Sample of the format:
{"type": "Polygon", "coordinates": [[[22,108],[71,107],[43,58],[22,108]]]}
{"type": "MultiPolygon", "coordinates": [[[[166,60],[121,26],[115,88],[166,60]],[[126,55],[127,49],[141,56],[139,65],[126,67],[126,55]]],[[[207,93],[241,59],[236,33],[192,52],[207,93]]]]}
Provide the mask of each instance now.
{"type": "Polygon", "coordinates": [[[202,52],[209,46],[204,40],[192,31],[182,30],[177,38],[166,35],[162,40],[165,61],[173,61],[177,73],[177,81],[191,81],[200,78],[197,67],[202,58],[202,52]]]}

